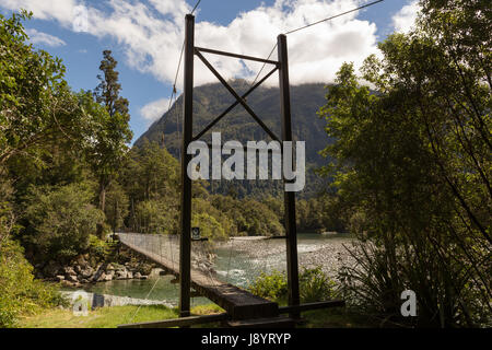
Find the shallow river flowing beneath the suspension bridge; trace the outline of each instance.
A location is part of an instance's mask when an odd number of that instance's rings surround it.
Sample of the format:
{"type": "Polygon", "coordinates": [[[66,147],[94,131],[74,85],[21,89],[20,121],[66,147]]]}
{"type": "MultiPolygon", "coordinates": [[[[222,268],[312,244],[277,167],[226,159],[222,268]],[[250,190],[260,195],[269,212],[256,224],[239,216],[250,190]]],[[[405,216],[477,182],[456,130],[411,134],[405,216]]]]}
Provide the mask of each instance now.
{"type": "MultiPolygon", "coordinates": [[[[343,245],[350,244],[345,234],[298,234],[297,252],[301,269],[321,266],[325,272],[336,276],[347,258],[343,245]]],[[[198,243],[199,244],[199,243],[198,243]]],[[[216,254],[214,270],[223,281],[248,287],[262,271],[285,270],[284,240],[231,240],[213,249],[216,254]]],[[[87,292],[113,294],[136,299],[166,301],[177,305],[179,284],[171,283],[172,276],[148,280],[114,280],[86,285],[87,292]]],[[[209,304],[204,298],[192,298],[192,305],[209,304]]]]}

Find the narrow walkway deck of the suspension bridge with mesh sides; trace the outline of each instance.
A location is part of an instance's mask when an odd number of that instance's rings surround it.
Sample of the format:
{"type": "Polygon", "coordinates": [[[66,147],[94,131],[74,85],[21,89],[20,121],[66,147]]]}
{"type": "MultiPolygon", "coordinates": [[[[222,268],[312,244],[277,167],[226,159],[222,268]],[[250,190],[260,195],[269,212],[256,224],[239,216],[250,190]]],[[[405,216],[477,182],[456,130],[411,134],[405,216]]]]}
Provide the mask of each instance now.
{"type": "MultiPolygon", "coordinates": [[[[173,235],[118,233],[121,245],[142,255],[157,264],[165,273],[179,279],[179,261],[175,259],[179,255],[177,238],[173,235]]],[[[201,244],[197,242],[197,244],[201,244]]],[[[209,316],[188,316],[178,319],[161,322],[121,325],[121,328],[148,328],[190,326],[198,323],[223,322],[232,327],[292,327],[298,320],[291,317],[282,317],[281,314],[291,313],[292,307],[279,307],[274,302],[268,301],[249,293],[248,291],[221,280],[218,275],[208,268],[203,268],[201,261],[208,259],[207,248],[197,247],[191,250],[191,288],[198,295],[214,302],[225,313],[209,316]]],[[[311,303],[297,306],[301,310],[342,306],[342,301],[329,301],[311,303]]]]}

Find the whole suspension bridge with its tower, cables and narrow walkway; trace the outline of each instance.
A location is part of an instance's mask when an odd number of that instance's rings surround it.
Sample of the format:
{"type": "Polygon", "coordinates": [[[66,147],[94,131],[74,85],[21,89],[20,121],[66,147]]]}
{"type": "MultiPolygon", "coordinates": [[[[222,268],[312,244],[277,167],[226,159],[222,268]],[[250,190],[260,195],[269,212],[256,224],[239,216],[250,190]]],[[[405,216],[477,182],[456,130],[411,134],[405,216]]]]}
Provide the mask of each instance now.
{"type": "MultiPolygon", "coordinates": [[[[201,1],[201,0],[200,0],[201,1]]],[[[187,171],[191,162],[191,155],[188,153],[188,145],[192,141],[199,140],[212,127],[214,127],[225,115],[237,105],[253,117],[253,119],[263,129],[263,131],[272,139],[282,142],[292,142],[292,116],[291,116],[291,98],[290,98],[290,82],[289,82],[289,62],[288,62],[288,45],[286,35],[297,33],[304,28],[313,25],[330,21],[332,19],[345,15],[348,13],[359,11],[363,8],[374,5],[383,0],[376,0],[366,3],[356,9],[345,11],[343,13],[323,19],[315,23],[304,25],[302,27],[286,31],[277,37],[277,44],[273,46],[269,57],[262,59],[259,57],[251,57],[243,54],[221,51],[211,48],[198,47],[195,45],[195,16],[194,12],[200,1],[197,2],[191,13],[185,18],[185,40],[179,56],[178,69],[176,71],[175,81],[173,84],[173,93],[169,100],[173,101],[173,95],[176,95],[176,81],[178,71],[184,61],[184,91],[183,91],[183,133],[181,133],[181,194],[180,194],[180,234],[179,245],[172,248],[171,254],[163,254],[163,236],[160,235],[141,235],[141,234],[120,234],[120,241],[124,245],[145,256],[162,266],[169,273],[179,279],[179,315],[178,320],[163,320],[151,324],[133,324],[124,325],[122,327],[172,327],[172,326],[190,326],[197,323],[207,323],[212,320],[229,320],[230,326],[253,326],[253,327],[268,327],[268,326],[293,326],[301,318],[301,312],[305,310],[332,307],[343,305],[343,301],[326,301],[319,303],[301,304],[300,300],[300,284],[298,284],[298,262],[297,262],[297,229],[295,220],[295,192],[284,192],[284,226],[285,226],[285,247],[286,247],[286,277],[288,277],[288,299],[289,306],[279,307],[277,303],[270,302],[262,298],[253,295],[251,293],[223,282],[212,275],[211,271],[200,270],[192,266],[192,240],[191,240],[191,178],[187,171]],[[270,60],[270,56],[274,49],[278,49],[278,59],[270,60]],[[249,90],[239,95],[222,77],[213,65],[204,57],[207,55],[219,55],[233,57],[241,60],[250,60],[262,62],[262,67],[258,72],[255,81],[249,90]],[[208,126],[204,127],[198,135],[194,136],[194,59],[197,56],[200,61],[216,77],[216,79],[224,85],[225,89],[236,100],[229,108],[215,117],[208,126]],[[273,69],[267,73],[261,80],[256,82],[266,67],[266,65],[273,66],[273,69]],[[263,83],[276,71],[279,72],[279,88],[280,88],[280,121],[282,133],[281,137],[272,132],[267,125],[258,117],[253,108],[247,104],[246,96],[263,83]],[[176,249],[177,248],[177,249],[176,249]],[[173,258],[173,250],[179,256],[178,261],[173,258]],[[190,296],[191,289],[195,289],[199,294],[210,299],[225,310],[225,314],[194,317],[190,316],[190,296]],[[281,318],[279,314],[288,313],[290,317],[281,318]]],[[[176,122],[179,125],[179,122],[176,122]]],[[[178,133],[179,135],[179,133],[178,133]]],[[[291,155],[292,156],[292,155],[291,155]]],[[[292,158],[293,161],[293,158],[292,158]]],[[[283,178],[284,183],[291,182],[283,178]]]]}

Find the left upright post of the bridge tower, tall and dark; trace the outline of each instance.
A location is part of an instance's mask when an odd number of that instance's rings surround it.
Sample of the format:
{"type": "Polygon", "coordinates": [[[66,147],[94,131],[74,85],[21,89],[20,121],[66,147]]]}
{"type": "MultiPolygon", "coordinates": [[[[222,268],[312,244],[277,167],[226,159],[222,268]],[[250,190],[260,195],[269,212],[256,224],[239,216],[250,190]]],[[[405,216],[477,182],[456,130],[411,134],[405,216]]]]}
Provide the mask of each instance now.
{"type": "Polygon", "coordinates": [[[179,316],[190,315],[191,287],[191,179],[187,168],[191,155],[187,153],[192,140],[194,122],[194,58],[195,58],[195,16],[186,15],[185,27],[185,88],[184,122],[181,149],[181,236],[179,241],[179,316]]]}

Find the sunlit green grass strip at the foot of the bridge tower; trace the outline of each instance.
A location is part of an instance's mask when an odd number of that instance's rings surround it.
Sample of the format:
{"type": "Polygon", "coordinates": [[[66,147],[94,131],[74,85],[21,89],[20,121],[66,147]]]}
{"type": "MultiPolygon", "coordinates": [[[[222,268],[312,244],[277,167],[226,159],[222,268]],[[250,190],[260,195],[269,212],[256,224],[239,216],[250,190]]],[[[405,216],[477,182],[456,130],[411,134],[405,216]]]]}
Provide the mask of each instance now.
{"type": "MultiPolygon", "coordinates": [[[[74,316],[71,310],[47,310],[35,316],[21,319],[22,328],[116,328],[118,325],[177,318],[177,308],[162,305],[113,306],[90,311],[87,316],[74,316]],[[134,317],[133,317],[134,315],[134,317]]],[[[219,306],[200,305],[191,308],[194,315],[210,315],[223,312],[219,306]]]]}

